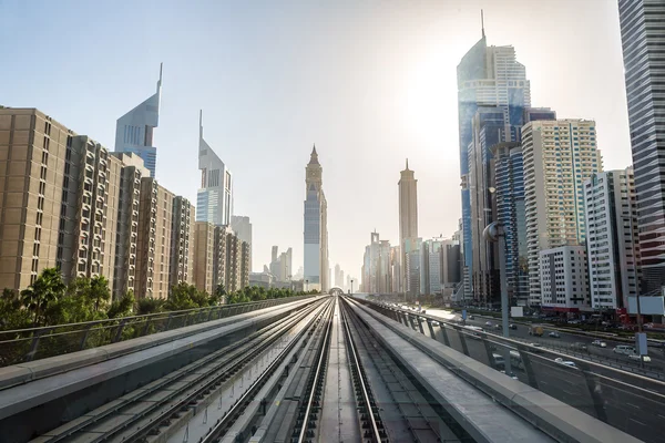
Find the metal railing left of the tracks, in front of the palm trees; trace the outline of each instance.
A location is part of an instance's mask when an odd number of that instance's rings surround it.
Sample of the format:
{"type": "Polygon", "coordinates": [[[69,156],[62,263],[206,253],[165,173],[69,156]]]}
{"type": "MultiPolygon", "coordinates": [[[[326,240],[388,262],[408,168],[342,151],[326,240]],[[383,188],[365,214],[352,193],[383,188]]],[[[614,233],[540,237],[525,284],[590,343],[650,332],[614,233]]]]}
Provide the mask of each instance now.
{"type": "Polygon", "coordinates": [[[237,316],[313,296],[0,331],[0,368],[237,316]]]}

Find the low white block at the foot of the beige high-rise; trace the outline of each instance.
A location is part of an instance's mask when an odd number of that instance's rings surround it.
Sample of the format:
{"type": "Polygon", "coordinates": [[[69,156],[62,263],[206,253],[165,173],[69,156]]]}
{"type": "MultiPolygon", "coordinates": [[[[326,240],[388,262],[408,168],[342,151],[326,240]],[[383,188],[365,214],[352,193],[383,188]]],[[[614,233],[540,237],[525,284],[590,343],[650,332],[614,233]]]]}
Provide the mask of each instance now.
{"type": "Polygon", "coordinates": [[[541,250],[539,258],[543,310],[579,312],[591,309],[584,246],[541,250]]]}

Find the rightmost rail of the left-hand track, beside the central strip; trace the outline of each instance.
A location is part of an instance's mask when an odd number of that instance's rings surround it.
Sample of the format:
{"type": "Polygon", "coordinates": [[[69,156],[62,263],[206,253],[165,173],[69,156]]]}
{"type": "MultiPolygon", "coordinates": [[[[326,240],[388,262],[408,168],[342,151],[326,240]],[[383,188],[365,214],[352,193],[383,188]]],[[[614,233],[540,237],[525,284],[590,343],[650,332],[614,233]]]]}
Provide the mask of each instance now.
{"type": "MultiPolygon", "coordinates": [[[[321,318],[325,317],[326,313],[332,312],[328,307],[317,317],[317,320],[320,321],[321,318]]],[[[313,332],[319,321],[314,321],[308,328],[304,328],[294,340],[291,340],[283,350],[279,352],[277,358],[273,360],[273,362],[266,368],[264,373],[254,382],[252,385],[241,395],[236,403],[224,414],[224,418],[217,421],[215,425],[209,430],[209,432],[201,439],[200,443],[213,443],[217,442],[217,439],[224,433],[225,430],[231,427],[236,419],[243,413],[246,408],[246,403],[248,403],[254,395],[259,391],[259,389],[268,381],[268,379],[273,375],[273,373],[278,369],[278,367],[284,362],[284,359],[288,356],[288,353],[298,344],[299,339],[305,334],[310,336],[310,331],[313,332]]]]}

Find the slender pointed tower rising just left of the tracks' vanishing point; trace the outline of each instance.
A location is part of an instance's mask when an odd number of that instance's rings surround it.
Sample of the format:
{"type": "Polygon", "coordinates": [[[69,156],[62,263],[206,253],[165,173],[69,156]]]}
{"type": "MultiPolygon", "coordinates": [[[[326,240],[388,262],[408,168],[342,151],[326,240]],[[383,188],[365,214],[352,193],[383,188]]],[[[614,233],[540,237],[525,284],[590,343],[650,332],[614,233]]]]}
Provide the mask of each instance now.
{"type": "Polygon", "coordinates": [[[323,167],[316,146],[305,168],[305,280],[309,290],[327,291],[328,282],[328,204],[324,194],[323,167]]]}

